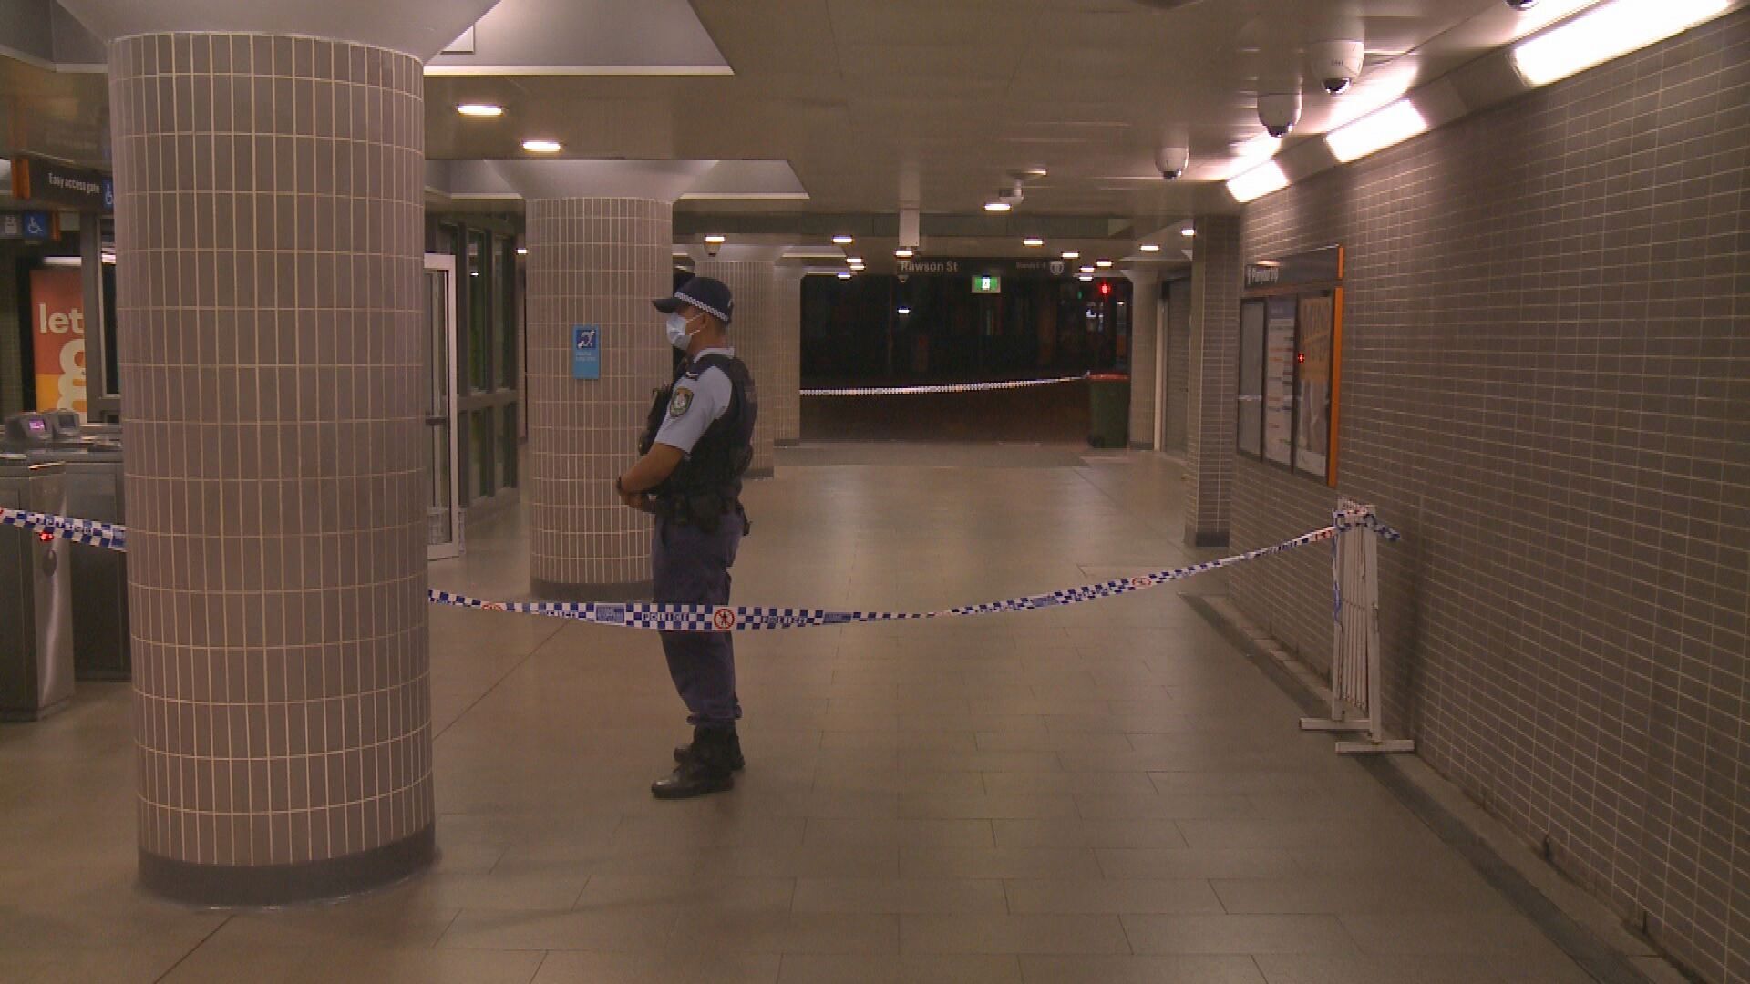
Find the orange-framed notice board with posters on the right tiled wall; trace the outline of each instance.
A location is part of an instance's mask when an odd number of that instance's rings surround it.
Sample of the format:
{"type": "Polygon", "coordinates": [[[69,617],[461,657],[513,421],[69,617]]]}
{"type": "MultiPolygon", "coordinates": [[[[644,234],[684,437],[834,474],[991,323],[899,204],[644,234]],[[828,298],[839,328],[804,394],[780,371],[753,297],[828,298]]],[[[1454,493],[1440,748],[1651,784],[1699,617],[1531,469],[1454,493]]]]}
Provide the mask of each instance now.
{"type": "Polygon", "coordinates": [[[1246,264],[1239,453],[1337,485],[1342,247],[1246,264]]]}

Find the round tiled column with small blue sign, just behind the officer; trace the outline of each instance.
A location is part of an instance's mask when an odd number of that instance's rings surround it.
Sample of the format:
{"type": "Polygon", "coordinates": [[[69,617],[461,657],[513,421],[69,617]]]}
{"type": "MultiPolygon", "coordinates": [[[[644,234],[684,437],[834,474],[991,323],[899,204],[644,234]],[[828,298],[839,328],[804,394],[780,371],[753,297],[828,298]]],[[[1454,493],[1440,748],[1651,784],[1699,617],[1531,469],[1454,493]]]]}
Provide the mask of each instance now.
{"type": "Polygon", "coordinates": [[[674,292],[672,212],[651,198],[528,201],[528,574],[541,597],[649,594],[651,518],[612,481],[637,457],[651,392],[668,383],[651,298],[674,292]],[[572,378],[579,324],[602,329],[600,380],[572,378]]]}

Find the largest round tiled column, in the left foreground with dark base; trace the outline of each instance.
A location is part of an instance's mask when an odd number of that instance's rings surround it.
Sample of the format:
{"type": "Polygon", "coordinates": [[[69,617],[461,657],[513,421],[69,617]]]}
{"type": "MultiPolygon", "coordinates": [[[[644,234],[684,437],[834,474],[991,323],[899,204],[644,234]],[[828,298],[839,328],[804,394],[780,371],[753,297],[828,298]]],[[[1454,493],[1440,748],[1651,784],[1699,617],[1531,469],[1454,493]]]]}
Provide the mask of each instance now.
{"type": "Polygon", "coordinates": [[[418,58],[110,46],[140,879],[289,902],[432,856],[418,58]]]}

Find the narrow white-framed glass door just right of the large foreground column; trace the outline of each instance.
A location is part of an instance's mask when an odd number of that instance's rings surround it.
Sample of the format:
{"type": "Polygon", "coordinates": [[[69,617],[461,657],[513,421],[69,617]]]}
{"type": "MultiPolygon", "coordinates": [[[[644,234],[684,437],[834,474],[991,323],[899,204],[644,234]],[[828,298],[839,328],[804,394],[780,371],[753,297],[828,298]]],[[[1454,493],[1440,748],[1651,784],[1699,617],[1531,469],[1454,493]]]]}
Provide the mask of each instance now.
{"type": "Polygon", "coordinates": [[[425,557],[462,555],[462,501],[457,469],[455,257],[425,254],[425,557]]]}

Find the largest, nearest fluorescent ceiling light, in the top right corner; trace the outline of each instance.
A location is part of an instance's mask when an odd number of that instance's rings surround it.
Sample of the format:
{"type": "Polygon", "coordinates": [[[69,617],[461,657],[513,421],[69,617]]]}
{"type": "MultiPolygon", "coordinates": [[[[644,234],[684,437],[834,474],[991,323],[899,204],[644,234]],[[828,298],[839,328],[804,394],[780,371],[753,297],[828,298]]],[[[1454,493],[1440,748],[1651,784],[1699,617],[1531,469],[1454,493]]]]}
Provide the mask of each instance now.
{"type": "Polygon", "coordinates": [[[1514,68],[1547,86],[1724,14],[1731,0],[1614,0],[1514,47],[1514,68]]]}

